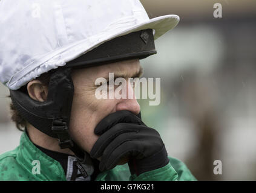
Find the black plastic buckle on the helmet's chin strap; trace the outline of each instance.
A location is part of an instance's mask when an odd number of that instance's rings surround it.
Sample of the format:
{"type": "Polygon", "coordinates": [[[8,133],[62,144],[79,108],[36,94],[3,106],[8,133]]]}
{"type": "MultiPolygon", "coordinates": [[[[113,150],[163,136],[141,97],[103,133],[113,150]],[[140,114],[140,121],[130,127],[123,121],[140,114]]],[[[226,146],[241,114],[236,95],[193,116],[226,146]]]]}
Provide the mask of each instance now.
{"type": "Polygon", "coordinates": [[[65,121],[55,119],[51,126],[51,130],[57,134],[57,137],[59,138],[59,146],[62,149],[73,147],[74,144],[70,139],[67,123],[65,121]]]}

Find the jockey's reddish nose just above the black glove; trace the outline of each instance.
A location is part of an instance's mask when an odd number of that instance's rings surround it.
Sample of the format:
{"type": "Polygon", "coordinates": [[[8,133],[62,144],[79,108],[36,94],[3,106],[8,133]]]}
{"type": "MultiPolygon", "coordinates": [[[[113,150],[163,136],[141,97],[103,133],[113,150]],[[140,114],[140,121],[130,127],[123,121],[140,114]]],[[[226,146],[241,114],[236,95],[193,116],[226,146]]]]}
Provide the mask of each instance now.
{"type": "Polygon", "coordinates": [[[140,105],[135,97],[133,86],[129,81],[126,81],[126,97],[121,98],[116,105],[116,111],[119,110],[129,110],[134,115],[140,112],[140,105]]]}

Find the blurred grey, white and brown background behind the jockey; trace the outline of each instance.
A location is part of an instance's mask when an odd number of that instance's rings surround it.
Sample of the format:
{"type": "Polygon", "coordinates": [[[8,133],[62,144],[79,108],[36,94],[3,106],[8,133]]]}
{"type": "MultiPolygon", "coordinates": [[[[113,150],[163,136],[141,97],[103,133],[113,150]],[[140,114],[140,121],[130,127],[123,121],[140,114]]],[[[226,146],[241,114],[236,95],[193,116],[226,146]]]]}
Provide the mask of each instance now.
{"type": "MultiPolygon", "coordinates": [[[[161,78],[161,103],[139,100],[169,156],[198,180],[256,180],[256,1],[141,0],[149,17],[177,14],[180,24],[141,61],[143,77],[161,78]],[[213,16],[222,5],[222,18],[213,16]],[[222,161],[215,175],[214,160],[222,161]]],[[[0,154],[19,144],[0,85],[0,154]]]]}

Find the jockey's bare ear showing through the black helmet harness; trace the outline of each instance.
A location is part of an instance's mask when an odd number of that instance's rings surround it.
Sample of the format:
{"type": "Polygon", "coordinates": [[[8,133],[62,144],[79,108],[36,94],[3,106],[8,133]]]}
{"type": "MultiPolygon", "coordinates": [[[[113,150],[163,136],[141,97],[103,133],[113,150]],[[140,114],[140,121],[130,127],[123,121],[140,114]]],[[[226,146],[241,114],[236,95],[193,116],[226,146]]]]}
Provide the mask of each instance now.
{"type": "Polygon", "coordinates": [[[48,87],[44,86],[39,80],[31,80],[27,84],[28,95],[36,101],[44,102],[47,100],[48,87]]]}

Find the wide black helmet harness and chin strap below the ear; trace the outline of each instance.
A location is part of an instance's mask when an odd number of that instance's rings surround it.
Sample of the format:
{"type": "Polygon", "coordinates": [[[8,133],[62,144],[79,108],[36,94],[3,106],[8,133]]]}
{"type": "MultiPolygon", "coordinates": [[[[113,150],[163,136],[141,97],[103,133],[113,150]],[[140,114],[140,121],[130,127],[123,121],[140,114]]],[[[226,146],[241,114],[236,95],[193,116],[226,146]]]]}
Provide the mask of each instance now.
{"type": "Polygon", "coordinates": [[[71,139],[68,129],[73,93],[71,68],[57,69],[51,74],[44,102],[31,99],[21,90],[10,90],[11,100],[22,118],[48,136],[59,139],[61,148],[70,148],[80,163],[79,170],[87,177],[93,173],[90,154],[71,139]]]}

